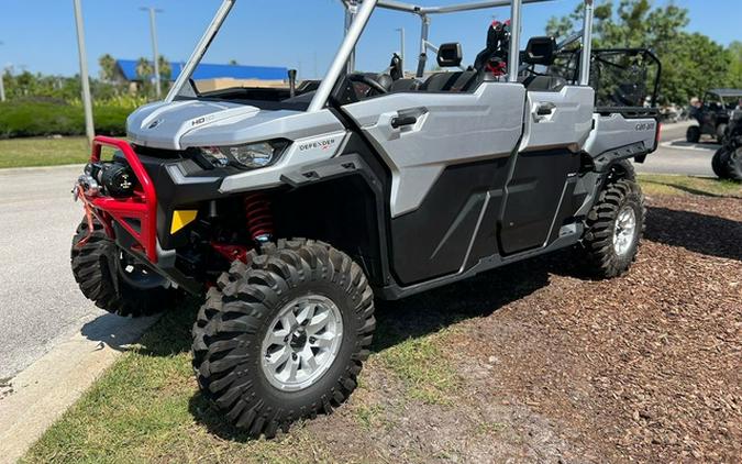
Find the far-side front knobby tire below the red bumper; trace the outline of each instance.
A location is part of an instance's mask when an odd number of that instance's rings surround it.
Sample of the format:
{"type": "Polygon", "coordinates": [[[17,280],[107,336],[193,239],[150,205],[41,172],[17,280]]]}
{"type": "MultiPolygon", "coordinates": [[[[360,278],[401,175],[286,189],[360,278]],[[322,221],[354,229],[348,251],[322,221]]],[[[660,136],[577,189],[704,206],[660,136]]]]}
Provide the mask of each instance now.
{"type": "Polygon", "coordinates": [[[181,294],[166,288],[167,280],[163,277],[147,272],[143,265],[123,263],[122,259],[131,258],[123,257],[102,224],[93,222],[93,228],[82,246],[79,243],[88,236],[87,221],[80,223],[73,237],[73,274],[86,298],[123,317],[151,316],[170,308],[179,299],[181,294]],[[131,272],[124,266],[131,267],[131,272]]]}

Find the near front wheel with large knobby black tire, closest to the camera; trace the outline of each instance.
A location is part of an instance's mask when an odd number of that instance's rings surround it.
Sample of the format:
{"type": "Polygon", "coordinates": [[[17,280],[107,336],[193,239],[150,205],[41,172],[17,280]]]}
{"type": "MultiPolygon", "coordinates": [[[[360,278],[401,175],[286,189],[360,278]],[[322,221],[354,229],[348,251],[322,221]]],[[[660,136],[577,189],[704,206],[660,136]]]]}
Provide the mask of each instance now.
{"type": "MultiPolygon", "coordinates": [[[[218,288],[209,291],[193,324],[193,369],[204,397],[226,420],[253,438],[273,438],[278,430],[287,432],[299,419],[332,412],[356,388],[376,328],[374,296],[361,267],[321,242],[281,240],[264,245],[259,253],[251,252],[247,262],[232,264],[219,279],[218,288]],[[290,378],[290,363],[296,364],[297,357],[290,355],[283,368],[275,362],[277,369],[268,367],[268,363],[274,356],[280,358],[284,349],[307,350],[313,343],[306,339],[302,345],[296,339],[294,323],[302,324],[303,311],[296,302],[306,299],[321,301],[312,314],[330,311],[325,306],[333,307],[333,318],[342,321],[342,335],[335,324],[330,338],[339,341],[336,352],[328,358],[330,363],[325,360],[325,371],[319,377],[287,388],[277,382],[278,374],[272,373],[288,372],[290,378]],[[286,311],[294,314],[292,322],[280,318],[286,311]],[[284,328],[285,323],[289,327],[284,328]],[[291,338],[290,345],[269,345],[268,336],[278,333],[277,328],[285,331],[279,336],[289,333],[284,341],[291,338]]],[[[303,324],[309,325],[302,333],[312,333],[309,329],[315,324],[313,318],[303,319],[308,321],[303,324]]],[[[321,332],[314,333],[322,336],[321,332]]],[[[303,353],[298,354],[301,368],[308,366],[302,364],[303,353]]]]}

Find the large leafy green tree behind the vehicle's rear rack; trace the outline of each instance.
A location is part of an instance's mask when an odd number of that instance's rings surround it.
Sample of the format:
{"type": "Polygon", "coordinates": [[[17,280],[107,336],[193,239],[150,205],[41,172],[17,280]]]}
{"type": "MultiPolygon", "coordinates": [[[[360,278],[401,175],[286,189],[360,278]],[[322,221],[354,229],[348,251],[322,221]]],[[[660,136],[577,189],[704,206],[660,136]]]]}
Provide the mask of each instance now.
{"type": "MultiPolygon", "coordinates": [[[[546,32],[564,36],[582,27],[582,2],[574,13],[552,18],[546,32]]],[[[662,62],[661,102],[686,104],[690,97],[730,79],[731,53],[702,34],[685,31],[688,10],[650,0],[607,1],[595,9],[594,46],[652,49],[662,62]]]]}

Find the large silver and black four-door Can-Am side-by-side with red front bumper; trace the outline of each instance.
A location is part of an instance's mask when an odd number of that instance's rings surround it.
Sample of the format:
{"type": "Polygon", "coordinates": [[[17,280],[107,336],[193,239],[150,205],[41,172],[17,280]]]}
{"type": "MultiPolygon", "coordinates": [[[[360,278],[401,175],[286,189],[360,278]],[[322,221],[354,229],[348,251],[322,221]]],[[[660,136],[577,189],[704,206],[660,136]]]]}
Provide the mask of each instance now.
{"type": "Polygon", "coordinates": [[[586,0],[576,73],[552,74],[554,37],[519,49],[523,2],[346,0],[346,35],[321,81],[199,92],[191,75],[235,4],[225,0],[167,99],[130,117],[130,142],[96,139],[76,187],[82,292],[123,316],[206,295],[198,384],[226,420],[273,437],[356,388],[374,298],[568,247],[598,277],[624,274],[645,218],[630,161],[656,148],[656,82],[611,80],[596,104],[590,63],[644,79],[635,59],[651,54],[591,53],[586,0]],[[433,15],[508,4],[512,24],[488,27],[470,67],[458,43],[429,41],[433,15]],[[377,9],[421,20],[417,77],[396,55],[381,73],[355,69],[377,9]],[[425,71],[431,51],[448,70],[425,71]]]}

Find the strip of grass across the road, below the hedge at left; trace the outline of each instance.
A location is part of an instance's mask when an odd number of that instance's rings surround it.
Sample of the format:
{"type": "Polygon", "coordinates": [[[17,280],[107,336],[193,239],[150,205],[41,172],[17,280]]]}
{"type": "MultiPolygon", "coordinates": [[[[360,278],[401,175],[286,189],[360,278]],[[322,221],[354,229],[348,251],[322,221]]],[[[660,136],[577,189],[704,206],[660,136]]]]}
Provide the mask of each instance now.
{"type": "Polygon", "coordinates": [[[0,140],[0,168],[82,164],[89,158],[86,137],[0,140]]]}

